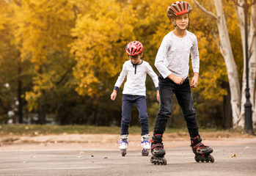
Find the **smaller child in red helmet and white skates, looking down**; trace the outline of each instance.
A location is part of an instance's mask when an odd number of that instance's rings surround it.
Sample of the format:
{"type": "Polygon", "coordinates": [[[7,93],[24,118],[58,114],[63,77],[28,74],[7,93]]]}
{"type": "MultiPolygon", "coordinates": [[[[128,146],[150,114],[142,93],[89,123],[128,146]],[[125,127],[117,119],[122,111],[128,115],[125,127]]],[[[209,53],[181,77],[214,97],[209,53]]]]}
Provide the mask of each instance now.
{"type": "Polygon", "coordinates": [[[117,90],[127,76],[127,81],[122,91],[122,120],[119,148],[122,150],[122,156],[125,156],[126,148],[128,147],[128,128],[131,120],[131,107],[132,104],[135,103],[139,111],[139,120],[142,127],[142,155],[148,155],[150,150],[150,135],[147,118],[145,81],[147,74],[149,74],[156,86],[156,98],[159,100],[158,77],[150,64],[142,60],[142,43],[139,41],[128,43],[125,51],[130,60],[122,65],[122,72],[117,78],[117,82],[114,84],[114,90],[111,93],[111,100],[115,100],[117,90]]]}

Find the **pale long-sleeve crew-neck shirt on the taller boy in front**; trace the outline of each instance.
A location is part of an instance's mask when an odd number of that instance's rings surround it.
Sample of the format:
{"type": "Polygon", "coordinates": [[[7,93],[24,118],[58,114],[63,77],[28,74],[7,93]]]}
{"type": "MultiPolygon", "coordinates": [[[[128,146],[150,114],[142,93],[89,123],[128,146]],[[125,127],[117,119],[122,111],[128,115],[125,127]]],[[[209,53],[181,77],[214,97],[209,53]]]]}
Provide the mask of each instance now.
{"type": "Polygon", "coordinates": [[[183,38],[169,32],[158,49],[155,66],[164,78],[170,74],[187,78],[189,75],[189,54],[194,73],[199,73],[200,58],[197,37],[186,31],[183,38]]]}

